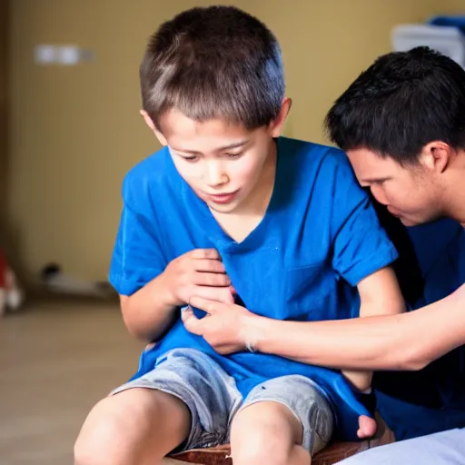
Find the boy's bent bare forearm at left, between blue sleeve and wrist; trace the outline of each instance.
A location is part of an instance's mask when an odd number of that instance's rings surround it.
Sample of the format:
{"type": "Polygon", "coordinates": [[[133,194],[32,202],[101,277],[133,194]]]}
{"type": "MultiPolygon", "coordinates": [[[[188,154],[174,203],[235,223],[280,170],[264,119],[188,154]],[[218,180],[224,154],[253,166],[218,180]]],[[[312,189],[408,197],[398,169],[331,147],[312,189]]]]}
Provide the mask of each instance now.
{"type": "Polygon", "coordinates": [[[124,323],[135,337],[155,341],[173,323],[175,306],[163,283],[163,274],[131,297],[121,297],[124,323]]]}

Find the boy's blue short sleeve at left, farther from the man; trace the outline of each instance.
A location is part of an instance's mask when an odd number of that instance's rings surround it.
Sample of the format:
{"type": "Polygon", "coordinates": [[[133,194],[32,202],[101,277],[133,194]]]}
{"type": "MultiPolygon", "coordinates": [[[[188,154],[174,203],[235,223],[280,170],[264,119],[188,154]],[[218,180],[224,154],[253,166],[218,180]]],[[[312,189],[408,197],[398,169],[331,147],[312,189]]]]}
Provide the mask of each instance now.
{"type": "Polygon", "coordinates": [[[116,292],[132,295],[164,271],[159,229],[149,190],[129,173],[109,280],[116,292]]]}

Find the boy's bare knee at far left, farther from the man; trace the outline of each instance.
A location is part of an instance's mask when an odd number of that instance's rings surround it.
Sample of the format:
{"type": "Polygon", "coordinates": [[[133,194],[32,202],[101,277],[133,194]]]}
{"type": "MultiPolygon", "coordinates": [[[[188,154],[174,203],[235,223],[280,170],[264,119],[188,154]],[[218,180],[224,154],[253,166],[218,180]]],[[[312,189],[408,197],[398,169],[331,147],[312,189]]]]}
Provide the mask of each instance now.
{"type": "Polygon", "coordinates": [[[74,446],[75,465],[159,465],[185,440],[191,414],[162,391],[134,388],[100,401],[74,446]]]}

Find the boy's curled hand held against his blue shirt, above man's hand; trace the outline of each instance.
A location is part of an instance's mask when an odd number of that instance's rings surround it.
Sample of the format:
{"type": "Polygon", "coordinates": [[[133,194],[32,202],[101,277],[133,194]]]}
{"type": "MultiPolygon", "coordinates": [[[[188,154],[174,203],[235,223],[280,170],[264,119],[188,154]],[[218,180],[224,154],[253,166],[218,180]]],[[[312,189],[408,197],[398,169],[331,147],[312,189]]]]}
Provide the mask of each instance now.
{"type": "Polygon", "coordinates": [[[164,286],[173,307],[188,304],[193,296],[233,303],[233,287],[220,254],[214,249],[195,249],[170,262],[163,272],[164,286]]]}

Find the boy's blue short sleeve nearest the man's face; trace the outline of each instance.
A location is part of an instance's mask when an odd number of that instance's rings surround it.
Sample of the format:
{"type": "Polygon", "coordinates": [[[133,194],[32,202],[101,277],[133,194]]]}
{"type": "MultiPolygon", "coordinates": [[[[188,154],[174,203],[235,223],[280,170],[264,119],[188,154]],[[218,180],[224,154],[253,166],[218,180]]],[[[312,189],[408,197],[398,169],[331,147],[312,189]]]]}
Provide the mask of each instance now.
{"type": "Polygon", "coordinates": [[[331,231],[332,266],[352,286],[395,262],[398,252],[382,228],[368,193],[345,153],[334,160],[331,231]]]}

